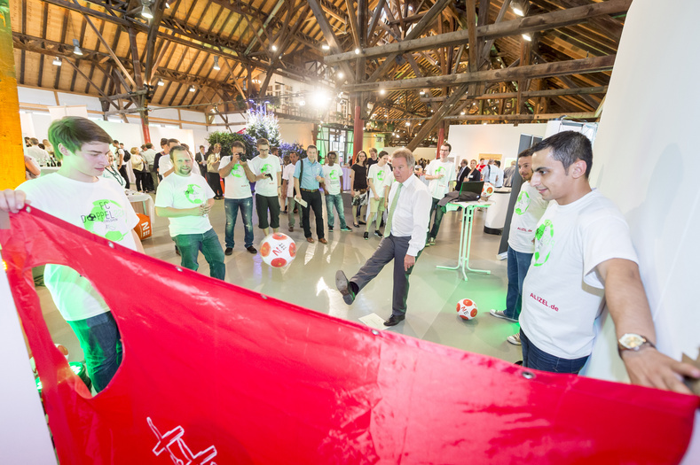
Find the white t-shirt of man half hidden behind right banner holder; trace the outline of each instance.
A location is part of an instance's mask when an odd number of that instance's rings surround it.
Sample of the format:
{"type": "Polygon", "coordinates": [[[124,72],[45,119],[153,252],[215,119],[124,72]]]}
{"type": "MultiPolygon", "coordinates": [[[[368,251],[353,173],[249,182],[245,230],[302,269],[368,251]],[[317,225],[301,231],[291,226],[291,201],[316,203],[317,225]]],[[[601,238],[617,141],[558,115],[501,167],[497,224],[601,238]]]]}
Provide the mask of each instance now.
{"type": "Polygon", "coordinates": [[[549,202],[539,195],[529,181],[523,182],[518,200],[515,202],[508,233],[508,245],[515,252],[535,252],[535,244],[532,240],[537,231],[537,222],[547,210],[547,205],[549,202]]]}

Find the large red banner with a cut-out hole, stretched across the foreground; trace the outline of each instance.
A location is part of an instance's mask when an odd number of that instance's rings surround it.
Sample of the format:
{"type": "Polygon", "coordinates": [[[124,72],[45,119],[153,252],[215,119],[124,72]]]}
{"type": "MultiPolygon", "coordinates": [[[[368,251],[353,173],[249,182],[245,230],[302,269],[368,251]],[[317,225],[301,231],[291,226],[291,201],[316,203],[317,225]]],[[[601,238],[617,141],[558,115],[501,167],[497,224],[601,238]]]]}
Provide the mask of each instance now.
{"type": "Polygon", "coordinates": [[[61,463],[676,463],[688,446],[694,396],[374,331],[35,208],[11,221],[2,256],[61,463]],[[88,277],[122,331],[94,398],[43,322],[29,270],[45,263],[88,277]]]}

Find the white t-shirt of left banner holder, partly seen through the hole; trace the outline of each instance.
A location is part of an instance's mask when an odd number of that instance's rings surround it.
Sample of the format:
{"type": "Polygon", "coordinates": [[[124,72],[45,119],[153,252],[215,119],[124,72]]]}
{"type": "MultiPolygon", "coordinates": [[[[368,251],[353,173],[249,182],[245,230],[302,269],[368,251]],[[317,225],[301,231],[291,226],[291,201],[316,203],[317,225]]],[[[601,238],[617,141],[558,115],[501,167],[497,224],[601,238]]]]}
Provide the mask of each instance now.
{"type": "MultiPolygon", "coordinates": [[[[131,230],[138,224],[138,216],[124,189],[112,180],[97,180],[80,182],[52,173],[23,182],[17,189],[27,194],[33,207],[136,250],[131,230]]],[[[109,311],[90,281],[71,267],[46,265],[43,281],[67,322],[85,320],[109,311]]]]}

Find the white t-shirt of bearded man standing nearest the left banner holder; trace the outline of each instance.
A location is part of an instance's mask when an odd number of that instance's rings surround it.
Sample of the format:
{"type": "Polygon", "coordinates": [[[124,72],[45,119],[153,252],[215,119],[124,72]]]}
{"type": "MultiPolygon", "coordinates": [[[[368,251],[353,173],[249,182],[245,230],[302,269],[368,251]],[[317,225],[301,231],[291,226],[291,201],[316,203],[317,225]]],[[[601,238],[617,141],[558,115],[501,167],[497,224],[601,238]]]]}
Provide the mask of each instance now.
{"type": "MultiPolygon", "coordinates": [[[[171,206],[173,208],[194,208],[205,204],[209,198],[214,198],[214,191],[207,180],[199,174],[180,176],[170,174],[163,178],[155,194],[155,206],[171,206]]],[[[208,216],[182,216],[168,218],[170,221],[170,236],[180,234],[204,234],[211,229],[208,216]]]]}

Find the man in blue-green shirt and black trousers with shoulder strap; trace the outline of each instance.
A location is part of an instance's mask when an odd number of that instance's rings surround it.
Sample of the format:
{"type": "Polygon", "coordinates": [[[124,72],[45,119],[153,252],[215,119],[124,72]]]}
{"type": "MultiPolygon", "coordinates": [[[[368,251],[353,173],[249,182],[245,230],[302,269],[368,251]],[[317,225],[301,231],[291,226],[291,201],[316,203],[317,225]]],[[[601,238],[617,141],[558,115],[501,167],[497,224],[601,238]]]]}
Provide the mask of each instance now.
{"type": "Polygon", "coordinates": [[[320,183],[323,182],[323,167],[316,159],[318,149],[316,145],[306,148],[306,158],[299,161],[295,167],[296,201],[303,200],[306,206],[302,206],[303,235],[306,241],[313,244],[311,237],[311,209],[316,217],[316,236],[319,243],[328,244],[323,233],[323,204],[321,203],[320,183]]]}

